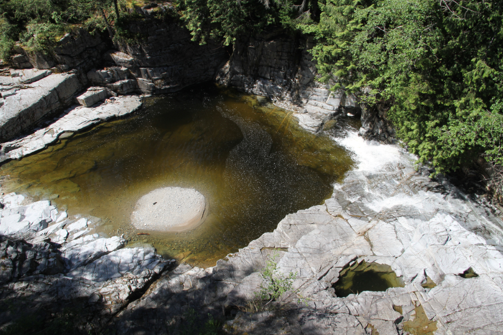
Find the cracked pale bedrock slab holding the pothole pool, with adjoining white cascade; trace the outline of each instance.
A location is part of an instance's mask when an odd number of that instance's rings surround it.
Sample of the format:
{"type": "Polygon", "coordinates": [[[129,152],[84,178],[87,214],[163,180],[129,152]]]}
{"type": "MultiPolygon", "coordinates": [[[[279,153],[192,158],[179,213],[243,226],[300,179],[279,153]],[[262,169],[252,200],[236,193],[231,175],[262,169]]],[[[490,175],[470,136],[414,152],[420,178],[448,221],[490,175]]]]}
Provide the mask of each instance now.
{"type": "Polygon", "coordinates": [[[341,142],[361,163],[324,205],[288,215],[212,268],[179,265],[115,317],[119,332],[162,333],[191,308],[232,318],[224,327],[232,334],[498,332],[500,218],[429,172],[416,172],[414,157],[398,147],[366,143],[355,133],[341,142]],[[373,156],[363,156],[368,152],[373,156]],[[241,311],[274,253],[282,273],[297,274],[293,286],[307,306],[297,305],[294,294],[283,310],[241,311]],[[340,271],[362,260],[389,265],[404,287],[335,296],[340,271]],[[469,268],[478,276],[461,276],[469,268]]]}

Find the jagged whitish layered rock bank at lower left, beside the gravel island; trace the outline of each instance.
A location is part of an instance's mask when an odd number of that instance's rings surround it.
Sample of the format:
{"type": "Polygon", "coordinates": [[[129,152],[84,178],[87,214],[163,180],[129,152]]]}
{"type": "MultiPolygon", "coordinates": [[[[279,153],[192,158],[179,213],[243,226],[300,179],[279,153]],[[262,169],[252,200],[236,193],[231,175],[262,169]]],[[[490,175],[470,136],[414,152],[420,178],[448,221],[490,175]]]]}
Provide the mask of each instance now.
{"type": "Polygon", "coordinates": [[[11,304],[2,324],[77,300],[97,317],[116,313],[172,263],[151,247],[124,249],[121,237],[92,233],[100,219],[68,217],[14,193],[0,201],[0,299],[11,304]]]}

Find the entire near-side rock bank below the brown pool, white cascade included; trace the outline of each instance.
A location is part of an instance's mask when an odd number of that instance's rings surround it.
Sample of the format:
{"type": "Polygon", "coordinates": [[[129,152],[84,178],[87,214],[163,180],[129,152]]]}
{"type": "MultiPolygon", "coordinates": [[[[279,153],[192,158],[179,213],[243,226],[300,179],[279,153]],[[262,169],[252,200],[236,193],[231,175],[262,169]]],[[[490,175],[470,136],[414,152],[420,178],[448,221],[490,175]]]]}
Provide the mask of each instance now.
{"type": "MultiPolygon", "coordinates": [[[[324,205],[288,215],[273,232],[208,269],[163,260],[148,246],[94,233],[100,220],[68,218],[48,201],[8,194],[0,229],[2,300],[33,311],[77,300],[88,324],[118,333],[163,333],[191,309],[229,320],[228,333],[494,333],[503,323],[503,224],[448,182],[416,172],[395,146],[336,139],[355,153],[324,205]],[[244,312],[272,254],[307,301],[244,312]],[[343,269],[389,265],[403,287],[337,297],[343,269]],[[473,276],[464,276],[471,271],[473,276]],[[466,278],[465,278],[466,277],[466,278]],[[34,304],[34,302],[36,304],[34,304]],[[92,317],[91,317],[92,316],[92,317]],[[430,332],[424,332],[430,333],[430,332]]],[[[2,323],[16,320],[0,313],[2,323]]]]}

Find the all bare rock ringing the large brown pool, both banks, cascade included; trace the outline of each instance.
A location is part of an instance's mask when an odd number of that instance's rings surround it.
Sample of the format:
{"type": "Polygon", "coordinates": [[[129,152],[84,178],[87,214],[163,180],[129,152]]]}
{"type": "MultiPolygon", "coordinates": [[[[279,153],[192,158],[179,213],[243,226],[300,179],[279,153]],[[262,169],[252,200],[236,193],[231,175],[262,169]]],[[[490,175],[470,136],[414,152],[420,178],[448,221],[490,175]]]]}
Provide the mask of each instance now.
{"type": "MultiPolygon", "coordinates": [[[[133,113],[139,94],[204,81],[266,96],[311,131],[342,112],[361,113],[360,135],[393,142],[383,113],[316,80],[308,36],[264,32],[236,43],[230,56],[190,39],[177,23],[152,22],[147,41],[137,45],[112,46],[77,29],[61,38],[52,58],[19,48],[16,66],[40,70],[0,76],[0,162],[133,113]],[[109,96],[115,100],[103,100],[109,96]]],[[[417,172],[415,158],[397,146],[366,142],[355,132],[334,141],[360,163],[332,197],[288,215],[207,269],[101,235],[98,218],[68,217],[48,200],[2,194],[0,329],[68,314],[84,333],[176,333],[197,311],[197,322],[210,314],[230,334],[500,332],[501,219],[449,182],[431,180],[430,171],[417,172]],[[283,309],[251,312],[246,304],[274,254],[281,273],[295,274],[293,289],[307,305],[291,294],[283,309]],[[388,266],[403,287],[337,296],[339,278],[363,261],[388,266]]]]}

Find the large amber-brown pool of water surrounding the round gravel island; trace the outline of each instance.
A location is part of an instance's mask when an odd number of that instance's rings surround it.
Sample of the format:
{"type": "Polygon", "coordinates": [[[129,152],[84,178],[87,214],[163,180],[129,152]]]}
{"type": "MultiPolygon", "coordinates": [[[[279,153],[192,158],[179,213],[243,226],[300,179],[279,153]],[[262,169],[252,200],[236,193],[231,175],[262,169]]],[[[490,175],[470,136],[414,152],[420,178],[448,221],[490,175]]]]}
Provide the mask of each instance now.
{"type": "Polygon", "coordinates": [[[150,243],[165,257],[210,266],[285,215],[321,204],[352,164],[328,135],[301,129],[291,113],[199,86],[149,98],[133,117],[61,139],[1,170],[3,192],[52,199],[70,215],[102,218],[99,229],[124,234],[129,245],[150,243]],[[204,222],[178,233],[135,228],[135,204],[162,187],[200,192],[204,222]]]}

